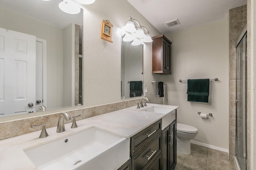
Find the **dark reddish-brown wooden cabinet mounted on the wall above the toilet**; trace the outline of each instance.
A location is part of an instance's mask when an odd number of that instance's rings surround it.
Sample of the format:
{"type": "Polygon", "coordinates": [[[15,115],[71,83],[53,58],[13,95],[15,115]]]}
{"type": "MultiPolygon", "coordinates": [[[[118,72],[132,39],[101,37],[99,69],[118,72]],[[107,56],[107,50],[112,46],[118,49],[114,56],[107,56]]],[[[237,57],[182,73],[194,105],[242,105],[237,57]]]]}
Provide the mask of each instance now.
{"type": "Polygon", "coordinates": [[[152,37],[152,73],[172,74],[171,45],[172,42],[164,35],[152,37]]]}

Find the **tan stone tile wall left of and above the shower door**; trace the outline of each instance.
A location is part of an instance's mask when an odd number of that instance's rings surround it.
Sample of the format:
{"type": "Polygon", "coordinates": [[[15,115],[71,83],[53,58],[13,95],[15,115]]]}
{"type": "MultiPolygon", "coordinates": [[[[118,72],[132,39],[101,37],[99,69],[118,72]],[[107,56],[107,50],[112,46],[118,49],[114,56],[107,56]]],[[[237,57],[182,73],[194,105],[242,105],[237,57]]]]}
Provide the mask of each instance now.
{"type": "MultiPolygon", "coordinates": [[[[233,8],[230,21],[230,160],[234,160],[236,143],[236,45],[247,23],[247,6],[233,8]]],[[[240,117],[242,118],[242,117],[240,117]]],[[[240,119],[242,122],[242,119],[240,119]]]]}

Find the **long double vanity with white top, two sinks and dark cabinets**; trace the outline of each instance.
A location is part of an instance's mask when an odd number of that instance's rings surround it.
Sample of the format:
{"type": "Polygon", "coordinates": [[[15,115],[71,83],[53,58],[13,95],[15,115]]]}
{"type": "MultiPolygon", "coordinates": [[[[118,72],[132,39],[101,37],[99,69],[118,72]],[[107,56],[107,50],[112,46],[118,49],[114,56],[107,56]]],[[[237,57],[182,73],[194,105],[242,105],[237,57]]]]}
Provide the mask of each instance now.
{"type": "Polygon", "coordinates": [[[0,169],[170,170],[176,165],[178,106],[148,104],[0,141],[0,169]]]}

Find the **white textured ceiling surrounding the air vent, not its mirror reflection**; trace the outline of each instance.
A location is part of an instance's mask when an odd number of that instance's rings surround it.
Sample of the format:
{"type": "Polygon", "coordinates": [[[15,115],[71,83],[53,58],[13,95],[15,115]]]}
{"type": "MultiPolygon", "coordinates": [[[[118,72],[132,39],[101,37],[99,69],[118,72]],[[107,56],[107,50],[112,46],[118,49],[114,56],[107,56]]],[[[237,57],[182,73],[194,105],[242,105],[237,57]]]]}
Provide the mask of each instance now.
{"type": "MultiPolygon", "coordinates": [[[[223,20],[232,8],[246,4],[247,0],[127,0],[158,31],[168,34],[180,29],[196,27],[223,20]],[[178,18],[179,25],[165,23],[178,18]]],[[[131,14],[132,15],[132,14],[131,14]]],[[[136,18],[134,18],[136,19],[136,18]]],[[[143,26],[143,25],[142,25],[143,26]]],[[[150,31],[150,30],[149,30],[150,31]]]]}

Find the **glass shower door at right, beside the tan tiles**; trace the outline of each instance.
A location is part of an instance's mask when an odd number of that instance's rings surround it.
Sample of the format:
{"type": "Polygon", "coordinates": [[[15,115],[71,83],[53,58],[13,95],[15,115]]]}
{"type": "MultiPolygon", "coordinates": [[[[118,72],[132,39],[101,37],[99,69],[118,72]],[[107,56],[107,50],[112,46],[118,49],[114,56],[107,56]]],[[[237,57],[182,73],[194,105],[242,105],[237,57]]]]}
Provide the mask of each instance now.
{"type": "Polygon", "coordinates": [[[247,106],[247,34],[236,46],[236,159],[241,170],[246,170],[246,106],[247,106]]]}

